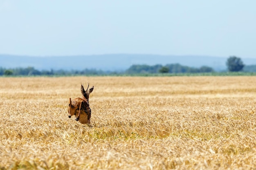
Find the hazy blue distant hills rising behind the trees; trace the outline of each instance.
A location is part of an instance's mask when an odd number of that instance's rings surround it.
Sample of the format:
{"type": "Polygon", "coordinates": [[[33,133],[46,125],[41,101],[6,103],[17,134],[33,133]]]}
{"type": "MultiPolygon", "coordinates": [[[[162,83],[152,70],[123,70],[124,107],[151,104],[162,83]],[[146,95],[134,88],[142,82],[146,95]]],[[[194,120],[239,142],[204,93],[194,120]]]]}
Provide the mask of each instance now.
{"type": "MultiPolygon", "coordinates": [[[[0,55],[0,67],[17,68],[32,66],[38,70],[82,70],[85,68],[101,69],[103,71],[124,71],[132,64],[175,64],[199,68],[210,66],[215,71],[225,70],[228,57],[209,56],[174,56],[174,55],[144,55],[144,54],[106,54],[79,56],[18,56],[0,55]]],[[[242,58],[246,65],[256,64],[256,59],[242,58]]]]}

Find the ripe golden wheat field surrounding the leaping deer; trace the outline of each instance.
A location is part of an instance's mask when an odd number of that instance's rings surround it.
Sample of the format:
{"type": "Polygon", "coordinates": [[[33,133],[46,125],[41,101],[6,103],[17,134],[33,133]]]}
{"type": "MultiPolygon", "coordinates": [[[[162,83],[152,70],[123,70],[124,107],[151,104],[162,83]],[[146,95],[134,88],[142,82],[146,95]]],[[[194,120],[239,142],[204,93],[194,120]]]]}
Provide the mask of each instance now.
{"type": "Polygon", "coordinates": [[[0,77],[1,170],[256,169],[256,77],[0,77]],[[91,125],[68,118],[81,82],[91,125]]]}

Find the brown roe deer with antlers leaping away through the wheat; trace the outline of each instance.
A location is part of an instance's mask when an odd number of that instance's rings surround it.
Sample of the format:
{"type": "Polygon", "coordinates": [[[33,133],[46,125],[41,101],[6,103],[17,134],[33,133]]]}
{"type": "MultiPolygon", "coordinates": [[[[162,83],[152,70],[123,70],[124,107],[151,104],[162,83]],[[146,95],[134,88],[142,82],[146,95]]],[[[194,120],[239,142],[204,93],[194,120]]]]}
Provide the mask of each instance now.
{"type": "Polygon", "coordinates": [[[71,101],[69,103],[68,108],[68,117],[71,118],[73,115],[76,117],[76,121],[79,121],[81,124],[90,124],[91,119],[91,108],[89,106],[89,95],[92,93],[94,86],[92,86],[89,91],[89,83],[86,91],[83,88],[83,85],[81,84],[81,93],[82,98],[78,97],[71,101]]]}

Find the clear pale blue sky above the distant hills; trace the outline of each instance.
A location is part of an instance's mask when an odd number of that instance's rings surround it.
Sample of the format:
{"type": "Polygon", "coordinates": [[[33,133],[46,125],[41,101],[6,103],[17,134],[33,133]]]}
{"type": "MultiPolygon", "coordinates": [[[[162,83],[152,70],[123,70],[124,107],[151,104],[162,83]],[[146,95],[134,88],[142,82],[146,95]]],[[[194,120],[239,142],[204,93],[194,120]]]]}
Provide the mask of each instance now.
{"type": "Polygon", "coordinates": [[[0,54],[256,58],[256,0],[0,0],[0,54]]]}

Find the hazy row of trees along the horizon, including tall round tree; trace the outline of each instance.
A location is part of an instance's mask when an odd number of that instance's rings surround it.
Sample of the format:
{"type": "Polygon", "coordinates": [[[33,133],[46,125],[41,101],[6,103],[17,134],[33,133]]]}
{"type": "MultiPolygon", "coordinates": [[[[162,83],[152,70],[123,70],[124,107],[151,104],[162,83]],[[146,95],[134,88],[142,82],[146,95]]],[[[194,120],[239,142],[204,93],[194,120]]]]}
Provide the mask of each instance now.
{"type": "MultiPolygon", "coordinates": [[[[245,72],[256,72],[256,65],[245,66],[243,61],[236,56],[230,56],[226,62],[227,70],[230,72],[245,71],[245,72]]],[[[143,74],[143,73],[213,73],[215,72],[213,68],[209,66],[201,66],[200,68],[194,68],[189,66],[183,66],[181,64],[166,64],[165,66],[161,64],[156,64],[149,66],[146,64],[135,64],[130,66],[126,71],[112,72],[112,71],[102,71],[97,69],[85,68],[81,71],[79,70],[43,70],[39,71],[34,67],[27,68],[2,68],[0,67],[0,75],[117,75],[117,74],[143,74]]]]}

